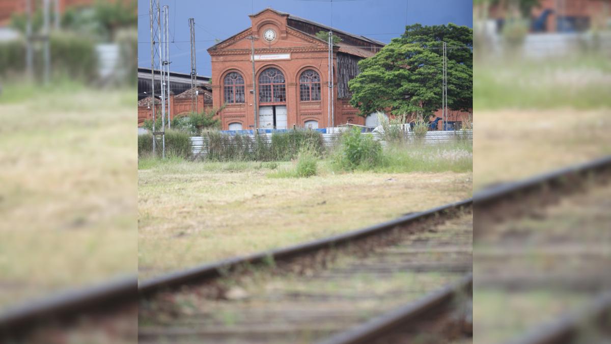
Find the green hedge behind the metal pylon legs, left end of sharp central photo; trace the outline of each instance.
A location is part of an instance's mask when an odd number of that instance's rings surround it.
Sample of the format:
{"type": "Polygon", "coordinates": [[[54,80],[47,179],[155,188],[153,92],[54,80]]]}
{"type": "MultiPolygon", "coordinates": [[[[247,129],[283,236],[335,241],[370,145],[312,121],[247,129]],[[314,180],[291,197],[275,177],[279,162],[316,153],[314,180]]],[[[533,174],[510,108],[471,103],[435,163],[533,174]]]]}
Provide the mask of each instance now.
{"type": "MultiPolygon", "coordinates": [[[[162,155],[163,141],[161,136],[156,137],[155,153],[158,157],[162,155]]],[[[138,156],[153,154],[153,135],[147,133],[138,135],[138,156]]],[[[166,156],[167,157],[191,157],[191,136],[178,130],[166,130],[166,156]]]]}

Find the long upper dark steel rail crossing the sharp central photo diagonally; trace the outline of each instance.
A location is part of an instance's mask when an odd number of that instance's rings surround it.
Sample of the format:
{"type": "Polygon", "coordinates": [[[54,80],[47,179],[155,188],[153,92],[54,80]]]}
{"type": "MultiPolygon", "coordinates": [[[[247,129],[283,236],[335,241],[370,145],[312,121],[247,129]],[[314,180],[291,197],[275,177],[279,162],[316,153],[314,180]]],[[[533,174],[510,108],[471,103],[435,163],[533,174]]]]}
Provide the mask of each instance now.
{"type": "Polygon", "coordinates": [[[340,247],[358,239],[364,239],[366,237],[375,236],[376,234],[386,233],[397,226],[409,225],[420,220],[441,215],[443,212],[455,211],[463,207],[470,206],[471,204],[472,199],[469,198],[467,200],[446,204],[427,211],[406,215],[388,222],[382,222],[378,225],[369,226],[360,230],[306,242],[305,244],[297,244],[280,249],[268,250],[265,252],[254,253],[252,255],[238,256],[227,260],[217,261],[215,263],[202,264],[183,271],[170,272],[169,274],[161,275],[160,277],[155,277],[139,283],[138,291],[141,297],[148,297],[161,290],[167,290],[185,284],[219,278],[223,275],[223,272],[234,271],[237,267],[244,266],[244,264],[260,264],[270,260],[273,260],[274,262],[288,261],[293,258],[298,258],[299,256],[305,256],[313,252],[318,252],[320,250],[340,247]]]}

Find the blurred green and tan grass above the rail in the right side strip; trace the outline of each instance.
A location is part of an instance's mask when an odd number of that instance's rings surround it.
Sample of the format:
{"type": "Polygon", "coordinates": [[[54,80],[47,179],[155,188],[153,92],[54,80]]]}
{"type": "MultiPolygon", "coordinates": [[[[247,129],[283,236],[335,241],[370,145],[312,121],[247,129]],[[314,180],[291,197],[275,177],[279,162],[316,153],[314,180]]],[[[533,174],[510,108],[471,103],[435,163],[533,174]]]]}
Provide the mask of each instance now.
{"type": "Polygon", "coordinates": [[[474,189],[611,154],[611,59],[474,65],[474,189]]]}

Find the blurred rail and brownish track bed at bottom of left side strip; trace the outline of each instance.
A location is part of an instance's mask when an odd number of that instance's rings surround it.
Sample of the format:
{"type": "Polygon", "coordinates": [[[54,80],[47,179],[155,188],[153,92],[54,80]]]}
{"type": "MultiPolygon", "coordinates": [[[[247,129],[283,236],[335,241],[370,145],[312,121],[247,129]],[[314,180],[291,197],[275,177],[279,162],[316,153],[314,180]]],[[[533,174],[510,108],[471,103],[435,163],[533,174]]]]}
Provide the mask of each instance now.
{"type": "Polygon", "coordinates": [[[0,313],[0,343],[133,343],[137,277],[67,290],[0,313]]]}

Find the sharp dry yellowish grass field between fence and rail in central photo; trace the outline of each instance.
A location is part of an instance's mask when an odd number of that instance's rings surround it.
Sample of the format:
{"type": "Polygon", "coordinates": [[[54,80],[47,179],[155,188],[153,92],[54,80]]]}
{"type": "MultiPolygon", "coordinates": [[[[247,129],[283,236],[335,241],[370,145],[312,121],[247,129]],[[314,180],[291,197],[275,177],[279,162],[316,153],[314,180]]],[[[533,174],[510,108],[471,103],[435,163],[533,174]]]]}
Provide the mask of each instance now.
{"type": "Polygon", "coordinates": [[[472,185],[470,173],[334,174],[323,166],[318,176],[277,179],[268,168],[175,166],[139,171],[141,278],[373,225],[467,198],[472,185]]]}

